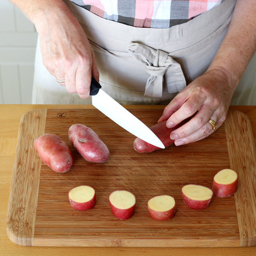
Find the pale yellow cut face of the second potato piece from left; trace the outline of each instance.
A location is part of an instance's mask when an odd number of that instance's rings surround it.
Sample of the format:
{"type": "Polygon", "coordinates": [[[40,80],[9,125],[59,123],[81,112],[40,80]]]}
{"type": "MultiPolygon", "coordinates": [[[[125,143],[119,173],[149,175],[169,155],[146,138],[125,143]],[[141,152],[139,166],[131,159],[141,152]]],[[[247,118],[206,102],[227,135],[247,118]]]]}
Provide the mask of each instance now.
{"type": "Polygon", "coordinates": [[[128,209],[134,206],[136,200],[135,196],[126,190],[116,190],[109,196],[111,204],[118,209],[128,209]]]}

